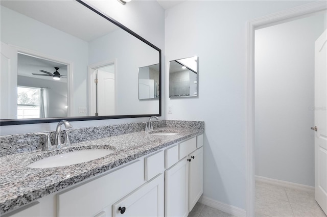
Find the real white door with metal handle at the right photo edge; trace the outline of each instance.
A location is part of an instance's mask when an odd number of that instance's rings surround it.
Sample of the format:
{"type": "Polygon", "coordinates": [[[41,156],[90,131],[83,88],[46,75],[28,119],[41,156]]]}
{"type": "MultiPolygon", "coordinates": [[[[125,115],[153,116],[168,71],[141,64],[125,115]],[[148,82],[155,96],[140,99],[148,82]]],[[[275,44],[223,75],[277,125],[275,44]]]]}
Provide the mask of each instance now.
{"type": "Polygon", "coordinates": [[[327,214],[327,30],[315,42],[315,199],[327,214]]]}

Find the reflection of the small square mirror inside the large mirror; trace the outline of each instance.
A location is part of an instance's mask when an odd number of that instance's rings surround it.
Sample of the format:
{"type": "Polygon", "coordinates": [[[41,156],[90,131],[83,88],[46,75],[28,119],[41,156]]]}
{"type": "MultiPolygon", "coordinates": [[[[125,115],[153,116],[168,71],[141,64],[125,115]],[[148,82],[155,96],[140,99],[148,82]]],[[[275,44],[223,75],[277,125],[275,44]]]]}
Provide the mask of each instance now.
{"type": "Polygon", "coordinates": [[[138,68],[138,99],[159,98],[159,64],[138,68]]]}

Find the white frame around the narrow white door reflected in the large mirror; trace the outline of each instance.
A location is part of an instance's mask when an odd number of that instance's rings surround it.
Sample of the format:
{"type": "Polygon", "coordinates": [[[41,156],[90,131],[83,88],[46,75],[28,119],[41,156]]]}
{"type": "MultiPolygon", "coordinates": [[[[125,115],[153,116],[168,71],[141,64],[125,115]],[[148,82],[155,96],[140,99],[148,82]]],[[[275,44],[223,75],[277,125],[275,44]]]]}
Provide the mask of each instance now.
{"type": "Polygon", "coordinates": [[[115,112],[117,111],[117,94],[118,94],[118,88],[117,88],[117,59],[113,60],[106,60],[102,61],[99,63],[91,64],[88,66],[88,116],[94,116],[95,111],[94,111],[94,95],[95,95],[95,90],[94,90],[94,72],[95,70],[102,68],[107,65],[114,65],[114,110],[115,112]]]}

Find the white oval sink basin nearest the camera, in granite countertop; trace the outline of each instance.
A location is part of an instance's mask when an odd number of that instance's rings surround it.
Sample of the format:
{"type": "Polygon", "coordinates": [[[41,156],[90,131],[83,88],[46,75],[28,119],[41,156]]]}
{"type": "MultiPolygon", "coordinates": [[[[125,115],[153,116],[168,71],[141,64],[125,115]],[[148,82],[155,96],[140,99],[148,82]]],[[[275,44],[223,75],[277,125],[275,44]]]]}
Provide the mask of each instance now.
{"type": "Polygon", "coordinates": [[[87,162],[100,157],[104,157],[108,154],[113,153],[110,149],[87,149],[68,152],[64,154],[57,154],[51,157],[47,157],[28,165],[29,168],[51,168],[51,167],[62,167],[73,164],[79,164],[81,162],[87,162]]]}

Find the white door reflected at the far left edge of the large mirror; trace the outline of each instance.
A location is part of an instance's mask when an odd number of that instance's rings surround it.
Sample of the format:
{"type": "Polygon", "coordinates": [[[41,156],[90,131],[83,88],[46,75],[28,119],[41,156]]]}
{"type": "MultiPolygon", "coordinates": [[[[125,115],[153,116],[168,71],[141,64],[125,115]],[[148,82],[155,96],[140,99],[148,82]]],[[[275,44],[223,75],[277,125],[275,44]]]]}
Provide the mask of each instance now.
{"type": "Polygon", "coordinates": [[[1,42],[0,118],[17,118],[17,50],[1,42]]]}

